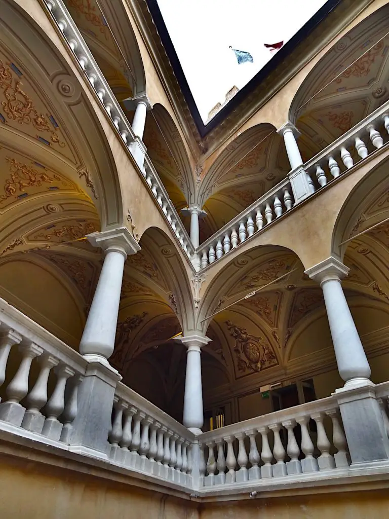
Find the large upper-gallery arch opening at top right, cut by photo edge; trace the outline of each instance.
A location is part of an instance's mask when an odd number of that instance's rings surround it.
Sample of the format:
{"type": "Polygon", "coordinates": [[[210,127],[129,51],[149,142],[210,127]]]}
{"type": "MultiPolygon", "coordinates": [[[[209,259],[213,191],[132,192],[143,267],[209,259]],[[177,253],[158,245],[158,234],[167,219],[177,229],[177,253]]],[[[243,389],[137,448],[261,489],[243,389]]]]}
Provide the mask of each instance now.
{"type": "Polygon", "coordinates": [[[385,5],[356,25],[326,52],[296,92],[289,120],[302,132],[304,160],[389,99],[388,19],[385,5]]]}

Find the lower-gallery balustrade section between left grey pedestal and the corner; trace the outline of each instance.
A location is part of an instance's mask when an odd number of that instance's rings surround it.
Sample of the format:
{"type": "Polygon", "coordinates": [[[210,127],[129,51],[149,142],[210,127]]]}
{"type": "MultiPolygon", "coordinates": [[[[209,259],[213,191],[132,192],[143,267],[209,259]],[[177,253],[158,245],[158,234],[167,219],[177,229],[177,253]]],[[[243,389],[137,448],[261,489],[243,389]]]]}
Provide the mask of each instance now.
{"type": "Polygon", "coordinates": [[[191,486],[191,448],[195,435],[119,383],[116,388],[110,459],[118,465],[191,486]]]}

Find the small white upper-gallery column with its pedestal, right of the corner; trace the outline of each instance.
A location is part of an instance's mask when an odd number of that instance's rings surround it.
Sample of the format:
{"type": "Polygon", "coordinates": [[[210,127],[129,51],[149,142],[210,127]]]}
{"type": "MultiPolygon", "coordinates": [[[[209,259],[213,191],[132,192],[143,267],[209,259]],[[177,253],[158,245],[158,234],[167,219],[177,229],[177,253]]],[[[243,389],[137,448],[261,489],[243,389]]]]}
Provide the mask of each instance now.
{"type": "Polygon", "coordinates": [[[303,168],[303,161],[297,144],[299,130],[290,121],[287,121],[277,133],[284,139],[286,153],[290,163],[288,177],[295,197],[295,204],[301,202],[314,192],[312,181],[303,168]]]}

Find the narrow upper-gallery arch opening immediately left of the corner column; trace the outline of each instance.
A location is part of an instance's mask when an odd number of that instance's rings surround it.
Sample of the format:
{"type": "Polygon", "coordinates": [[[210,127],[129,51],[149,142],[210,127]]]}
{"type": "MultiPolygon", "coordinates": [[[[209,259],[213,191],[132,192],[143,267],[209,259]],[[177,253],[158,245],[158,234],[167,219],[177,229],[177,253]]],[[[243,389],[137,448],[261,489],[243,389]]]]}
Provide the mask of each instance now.
{"type": "Polygon", "coordinates": [[[193,173],[184,141],[175,122],[159,103],[154,105],[147,116],[143,140],[158,174],[162,179],[168,180],[165,187],[169,196],[172,193],[172,201],[179,211],[183,208],[180,207],[182,202],[190,203],[194,196],[193,173]],[[170,189],[172,184],[175,186],[174,190],[170,189]],[[177,197],[177,191],[181,196],[177,197]]]}

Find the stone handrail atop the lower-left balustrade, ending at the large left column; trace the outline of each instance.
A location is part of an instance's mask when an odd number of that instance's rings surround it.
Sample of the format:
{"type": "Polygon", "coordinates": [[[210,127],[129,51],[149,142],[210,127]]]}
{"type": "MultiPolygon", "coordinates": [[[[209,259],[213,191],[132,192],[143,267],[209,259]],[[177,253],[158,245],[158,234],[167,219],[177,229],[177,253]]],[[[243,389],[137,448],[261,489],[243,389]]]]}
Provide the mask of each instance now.
{"type": "Polygon", "coordinates": [[[15,330],[24,340],[37,344],[46,353],[52,354],[59,361],[70,366],[76,373],[85,373],[88,362],[80,353],[2,298],[0,298],[0,323],[1,332],[4,331],[4,327],[15,330]]]}

